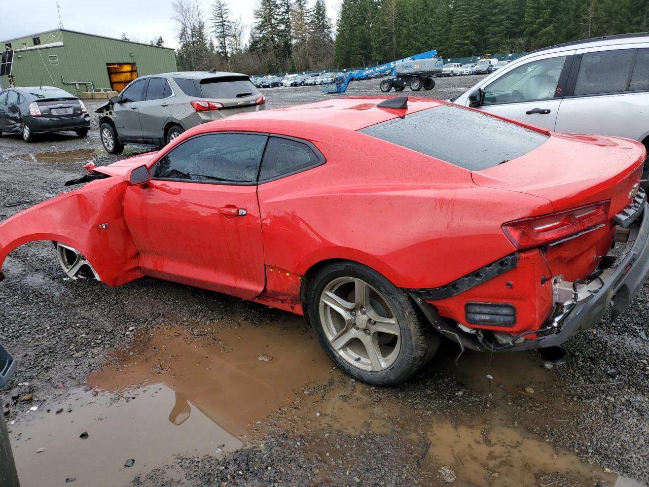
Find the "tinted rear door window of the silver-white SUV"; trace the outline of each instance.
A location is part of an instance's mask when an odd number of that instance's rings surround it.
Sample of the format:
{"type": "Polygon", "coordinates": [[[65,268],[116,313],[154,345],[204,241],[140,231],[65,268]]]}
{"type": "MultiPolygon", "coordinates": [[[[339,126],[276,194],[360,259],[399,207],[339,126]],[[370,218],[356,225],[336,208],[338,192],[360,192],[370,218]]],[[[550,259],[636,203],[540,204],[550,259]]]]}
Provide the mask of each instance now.
{"type": "Polygon", "coordinates": [[[635,49],[584,53],[574,94],[595,95],[626,92],[635,49]]]}

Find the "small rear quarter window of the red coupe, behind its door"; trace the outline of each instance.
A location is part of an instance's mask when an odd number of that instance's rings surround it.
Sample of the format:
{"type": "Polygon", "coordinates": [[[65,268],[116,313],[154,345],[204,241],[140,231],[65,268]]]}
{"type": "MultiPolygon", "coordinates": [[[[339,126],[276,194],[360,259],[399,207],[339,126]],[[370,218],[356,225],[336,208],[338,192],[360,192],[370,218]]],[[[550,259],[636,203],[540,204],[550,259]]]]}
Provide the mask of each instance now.
{"type": "Polygon", "coordinates": [[[295,140],[271,137],[263,155],[259,181],[302,171],[317,166],[320,162],[321,159],[308,145],[295,140]]]}

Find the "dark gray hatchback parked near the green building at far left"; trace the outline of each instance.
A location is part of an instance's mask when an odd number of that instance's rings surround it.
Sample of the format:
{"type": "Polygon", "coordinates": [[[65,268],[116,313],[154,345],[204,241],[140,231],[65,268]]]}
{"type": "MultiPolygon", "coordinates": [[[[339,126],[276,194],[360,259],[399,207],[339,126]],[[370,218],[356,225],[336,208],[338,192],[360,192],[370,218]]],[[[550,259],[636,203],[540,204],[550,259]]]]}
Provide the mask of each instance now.
{"type": "Polygon", "coordinates": [[[55,86],[26,86],[0,92],[0,135],[21,134],[31,142],[34,134],[75,131],[85,137],[90,115],[83,102],[55,86]]]}

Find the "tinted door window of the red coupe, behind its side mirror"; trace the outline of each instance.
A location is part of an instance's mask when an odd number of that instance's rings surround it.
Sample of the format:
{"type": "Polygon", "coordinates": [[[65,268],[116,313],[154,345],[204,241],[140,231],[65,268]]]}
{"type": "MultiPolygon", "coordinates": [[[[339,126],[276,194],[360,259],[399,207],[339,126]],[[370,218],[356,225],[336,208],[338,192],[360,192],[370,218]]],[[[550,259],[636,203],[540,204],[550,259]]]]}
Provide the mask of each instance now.
{"type": "Polygon", "coordinates": [[[156,165],[156,179],[256,182],[267,136],[208,134],[191,138],[156,165]]]}

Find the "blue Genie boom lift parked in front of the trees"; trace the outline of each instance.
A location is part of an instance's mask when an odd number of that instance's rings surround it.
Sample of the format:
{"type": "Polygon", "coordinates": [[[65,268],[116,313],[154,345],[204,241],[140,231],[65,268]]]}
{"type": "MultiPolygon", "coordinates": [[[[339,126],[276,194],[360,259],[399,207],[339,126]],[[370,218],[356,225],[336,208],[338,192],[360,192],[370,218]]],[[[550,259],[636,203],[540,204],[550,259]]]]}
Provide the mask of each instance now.
{"type": "Polygon", "coordinates": [[[347,76],[339,76],[334,82],[327,83],[327,87],[323,92],[343,93],[347,90],[347,86],[352,79],[365,79],[369,75],[377,73],[395,74],[395,78],[381,81],[380,89],[382,92],[389,92],[392,88],[400,92],[406,85],[409,85],[413,91],[419,91],[421,88],[432,90],[435,86],[433,76],[441,73],[443,64],[441,58],[437,57],[437,51],[432,49],[432,51],[408,56],[374,68],[361,69],[361,71],[349,73],[347,76]]]}

